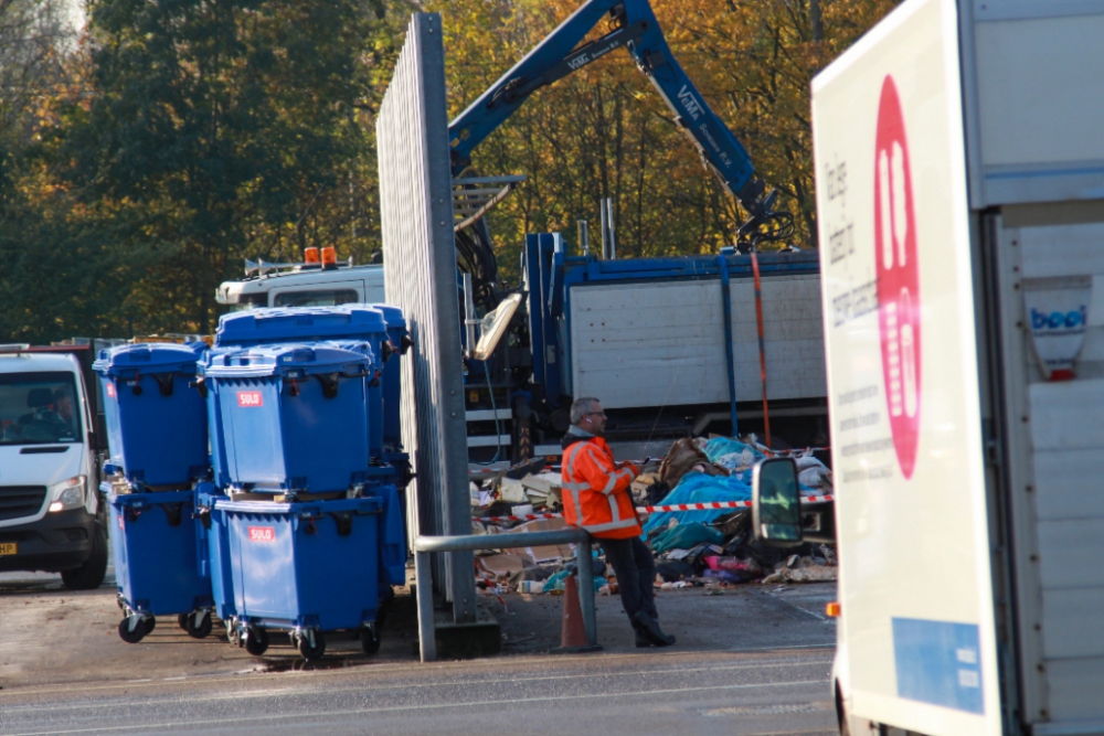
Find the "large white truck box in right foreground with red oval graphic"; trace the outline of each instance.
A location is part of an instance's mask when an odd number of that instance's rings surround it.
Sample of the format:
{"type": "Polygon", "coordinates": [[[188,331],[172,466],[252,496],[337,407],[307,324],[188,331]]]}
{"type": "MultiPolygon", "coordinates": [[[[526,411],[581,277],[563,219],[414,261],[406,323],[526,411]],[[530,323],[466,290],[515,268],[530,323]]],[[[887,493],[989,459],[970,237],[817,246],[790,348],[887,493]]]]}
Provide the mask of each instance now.
{"type": "Polygon", "coordinates": [[[852,734],[1104,734],[1101,39],[907,0],[814,79],[852,734]]]}

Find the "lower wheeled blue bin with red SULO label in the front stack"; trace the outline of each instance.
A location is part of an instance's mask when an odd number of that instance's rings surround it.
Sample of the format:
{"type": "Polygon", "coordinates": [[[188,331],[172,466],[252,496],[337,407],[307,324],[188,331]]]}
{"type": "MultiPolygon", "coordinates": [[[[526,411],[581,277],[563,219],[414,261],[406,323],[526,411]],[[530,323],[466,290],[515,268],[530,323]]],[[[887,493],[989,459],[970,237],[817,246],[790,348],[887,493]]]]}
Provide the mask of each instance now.
{"type": "MultiPolygon", "coordinates": [[[[307,659],[326,650],[323,631],[360,631],[367,653],[379,649],[378,497],[307,503],[211,497],[212,526],[225,529],[234,600],[215,587],[216,606],[233,608],[232,641],[259,655],[268,630],[286,630],[307,659]]],[[[214,556],[212,551],[212,556],[214,556]]]]}

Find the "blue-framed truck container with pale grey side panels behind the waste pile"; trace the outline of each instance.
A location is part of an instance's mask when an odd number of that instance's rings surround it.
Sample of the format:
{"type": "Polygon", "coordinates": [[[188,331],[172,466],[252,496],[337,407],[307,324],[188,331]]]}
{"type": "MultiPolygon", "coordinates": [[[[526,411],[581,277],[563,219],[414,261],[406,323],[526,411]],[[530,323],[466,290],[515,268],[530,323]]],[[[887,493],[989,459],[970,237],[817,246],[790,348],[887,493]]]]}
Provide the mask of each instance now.
{"type": "MultiPolygon", "coordinates": [[[[822,420],[817,255],[764,253],[758,269],[772,415],[822,420]]],[[[524,273],[533,383],[550,403],[597,396],[623,416],[671,407],[707,422],[730,419],[734,397],[737,424],[763,416],[751,256],[599,260],[569,255],[559,234],[540,234],[529,236],[524,273]]],[[[644,426],[655,430],[654,422],[644,426]]]]}

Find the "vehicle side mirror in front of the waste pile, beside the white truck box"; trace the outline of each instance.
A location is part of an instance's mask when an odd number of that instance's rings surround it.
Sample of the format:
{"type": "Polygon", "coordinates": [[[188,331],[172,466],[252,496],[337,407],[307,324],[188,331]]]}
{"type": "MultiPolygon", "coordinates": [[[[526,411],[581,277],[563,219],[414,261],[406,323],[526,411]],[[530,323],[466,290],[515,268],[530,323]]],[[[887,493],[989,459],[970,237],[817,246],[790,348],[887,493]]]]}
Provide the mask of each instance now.
{"type": "Polygon", "coordinates": [[[792,459],[768,458],[752,469],[752,529],[771,546],[802,544],[802,491],[792,459]]]}

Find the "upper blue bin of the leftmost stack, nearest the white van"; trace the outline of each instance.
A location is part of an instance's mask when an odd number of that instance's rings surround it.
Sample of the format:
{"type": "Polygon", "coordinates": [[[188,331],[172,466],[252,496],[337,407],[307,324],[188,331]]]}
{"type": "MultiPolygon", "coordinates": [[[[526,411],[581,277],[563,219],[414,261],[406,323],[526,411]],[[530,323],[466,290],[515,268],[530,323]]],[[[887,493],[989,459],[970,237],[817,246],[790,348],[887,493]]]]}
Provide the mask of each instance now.
{"type": "Polygon", "coordinates": [[[206,405],[195,387],[203,343],[103,350],[99,374],[113,465],[140,487],[187,488],[206,476],[206,405]]]}

